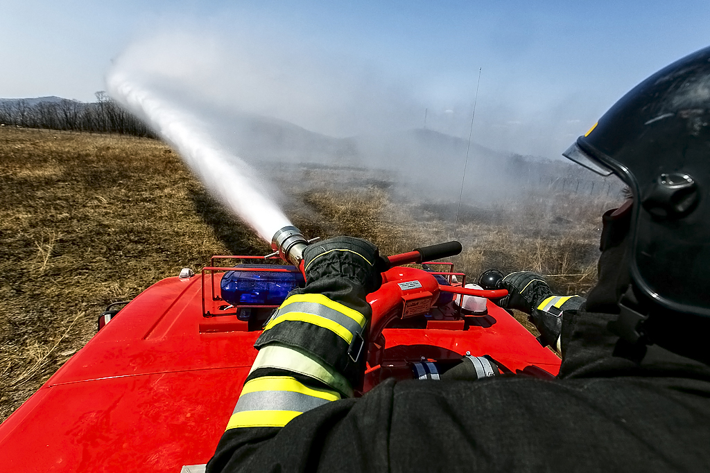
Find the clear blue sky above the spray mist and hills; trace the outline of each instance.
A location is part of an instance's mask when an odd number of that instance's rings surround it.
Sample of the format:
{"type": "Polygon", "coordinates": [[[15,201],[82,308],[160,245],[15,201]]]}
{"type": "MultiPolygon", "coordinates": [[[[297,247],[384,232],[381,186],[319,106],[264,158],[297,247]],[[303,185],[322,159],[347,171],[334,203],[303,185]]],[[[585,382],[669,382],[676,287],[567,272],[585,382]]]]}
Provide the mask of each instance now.
{"type": "Polygon", "coordinates": [[[474,139],[552,155],[641,79],[710,45],[709,23],[708,1],[0,0],[0,96],[91,100],[135,40],[187,30],[354,58],[457,135],[482,67],[474,139]]]}

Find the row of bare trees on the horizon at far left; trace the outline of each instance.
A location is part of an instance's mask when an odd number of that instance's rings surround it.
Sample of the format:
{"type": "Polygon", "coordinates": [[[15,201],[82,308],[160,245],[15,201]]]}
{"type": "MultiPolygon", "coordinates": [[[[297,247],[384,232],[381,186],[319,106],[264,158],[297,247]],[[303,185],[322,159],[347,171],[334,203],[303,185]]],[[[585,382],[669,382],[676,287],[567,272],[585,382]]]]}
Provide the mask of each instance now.
{"type": "Polygon", "coordinates": [[[97,92],[96,98],[91,103],[68,99],[0,100],[0,124],[156,138],[146,123],[121,108],[104,91],[97,92]]]}

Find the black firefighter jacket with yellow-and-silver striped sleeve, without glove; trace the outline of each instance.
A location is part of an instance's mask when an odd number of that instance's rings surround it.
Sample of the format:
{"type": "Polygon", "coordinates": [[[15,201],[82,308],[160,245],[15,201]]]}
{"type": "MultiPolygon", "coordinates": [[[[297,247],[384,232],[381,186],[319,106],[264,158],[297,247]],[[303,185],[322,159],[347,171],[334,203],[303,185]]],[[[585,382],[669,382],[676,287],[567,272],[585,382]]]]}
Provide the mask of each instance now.
{"type": "Polygon", "coordinates": [[[562,312],[557,379],[389,379],[354,399],[366,291],[314,287],[266,325],[208,472],[710,471],[710,369],[614,356],[599,291],[562,312]]]}

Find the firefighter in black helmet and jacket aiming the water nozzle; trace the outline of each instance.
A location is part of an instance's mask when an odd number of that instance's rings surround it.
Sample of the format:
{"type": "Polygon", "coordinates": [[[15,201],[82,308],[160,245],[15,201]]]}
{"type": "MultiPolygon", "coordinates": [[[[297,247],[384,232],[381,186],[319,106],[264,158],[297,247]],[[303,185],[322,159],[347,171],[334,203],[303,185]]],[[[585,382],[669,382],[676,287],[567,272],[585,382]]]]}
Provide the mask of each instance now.
{"type": "Polygon", "coordinates": [[[326,240],[258,338],[207,471],[710,471],[710,48],[639,84],[564,155],[632,199],[603,216],[586,300],[528,272],[501,282],[500,304],[561,350],[557,379],[388,379],[352,398],[382,268],[370,243],[326,240]]]}

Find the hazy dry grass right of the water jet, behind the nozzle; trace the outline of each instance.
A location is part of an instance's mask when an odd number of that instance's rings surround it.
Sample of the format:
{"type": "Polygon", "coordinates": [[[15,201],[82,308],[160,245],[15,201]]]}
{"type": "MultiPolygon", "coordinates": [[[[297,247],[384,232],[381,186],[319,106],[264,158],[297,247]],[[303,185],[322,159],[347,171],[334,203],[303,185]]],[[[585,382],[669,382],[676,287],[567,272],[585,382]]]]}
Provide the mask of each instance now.
{"type": "MultiPolygon", "coordinates": [[[[313,170],[307,174],[318,182],[315,189],[300,192],[305,204],[300,220],[320,225],[320,233],[311,235],[368,238],[383,255],[455,238],[464,251],[452,261],[469,275],[469,282],[486,269],[527,270],[545,275],[559,294],[586,294],[596,284],[600,217],[618,204],[616,199],[531,193],[493,208],[469,208],[454,233],[454,203],[427,206],[380,187],[343,189],[342,183],[329,184],[313,170]],[[452,218],[442,219],[441,213],[452,218]]],[[[323,174],[331,178],[329,172],[323,174]]]]}

